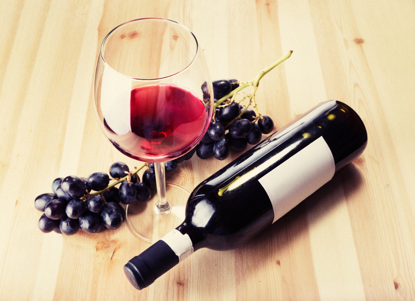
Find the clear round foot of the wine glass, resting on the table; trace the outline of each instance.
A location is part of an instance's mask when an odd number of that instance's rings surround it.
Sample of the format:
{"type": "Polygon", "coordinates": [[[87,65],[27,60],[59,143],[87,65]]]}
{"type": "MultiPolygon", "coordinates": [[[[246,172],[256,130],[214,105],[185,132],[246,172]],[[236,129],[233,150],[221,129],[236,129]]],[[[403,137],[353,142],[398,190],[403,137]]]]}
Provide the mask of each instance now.
{"type": "Polygon", "coordinates": [[[166,183],[166,197],[170,204],[170,211],[165,214],[156,214],[157,193],[152,193],[147,202],[138,202],[127,205],[127,225],[132,234],[141,240],[154,243],[185,220],[186,203],[190,192],[180,185],[166,183]]]}

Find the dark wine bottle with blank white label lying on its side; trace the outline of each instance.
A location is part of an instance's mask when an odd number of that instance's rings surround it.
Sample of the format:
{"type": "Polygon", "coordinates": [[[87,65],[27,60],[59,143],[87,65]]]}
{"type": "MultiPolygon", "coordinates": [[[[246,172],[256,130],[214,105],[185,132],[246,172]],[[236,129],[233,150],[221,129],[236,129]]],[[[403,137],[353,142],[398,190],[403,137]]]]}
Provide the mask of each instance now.
{"type": "Polygon", "coordinates": [[[364,124],[349,106],[314,107],[200,183],[182,224],[132,258],[124,272],[143,289],[195,250],[239,247],[358,158],[364,124]]]}

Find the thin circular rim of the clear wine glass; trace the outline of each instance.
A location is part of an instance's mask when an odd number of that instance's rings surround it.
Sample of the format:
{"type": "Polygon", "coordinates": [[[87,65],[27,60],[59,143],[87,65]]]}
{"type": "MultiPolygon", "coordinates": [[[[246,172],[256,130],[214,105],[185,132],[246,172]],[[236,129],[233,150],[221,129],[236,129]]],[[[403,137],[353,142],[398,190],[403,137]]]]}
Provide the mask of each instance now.
{"type": "Polygon", "coordinates": [[[174,77],[174,76],[176,76],[177,74],[180,74],[180,73],[182,73],[182,72],[185,72],[187,69],[189,69],[192,65],[193,65],[193,63],[196,61],[196,58],[197,58],[197,56],[198,56],[198,54],[199,54],[199,42],[197,41],[197,39],[196,39],[196,36],[193,34],[193,32],[189,29],[189,28],[187,28],[186,26],[184,26],[183,24],[181,24],[181,23],[179,23],[179,22],[176,22],[176,21],[173,21],[173,20],[170,20],[170,19],[166,19],[166,18],[155,18],[155,17],[149,17],[149,18],[139,18],[139,19],[133,19],[133,20],[130,20],[130,21],[126,21],[126,22],[124,22],[124,23],[121,23],[121,24],[119,24],[117,27],[114,27],[106,36],[105,36],[105,38],[102,40],[102,43],[101,43],[101,47],[100,47],[100,54],[99,54],[99,57],[101,58],[101,60],[103,61],[103,63],[104,63],[104,65],[105,66],[107,66],[108,68],[110,68],[112,71],[114,71],[114,72],[116,72],[116,73],[118,73],[118,74],[120,74],[121,76],[123,76],[123,77],[125,77],[125,78],[127,78],[127,79],[130,79],[130,80],[133,80],[133,81],[143,81],[143,82],[151,82],[151,81],[154,81],[154,82],[156,82],[156,81],[160,81],[160,80],[164,80],[164,79],[168,79],[168,78],[171,78],[171,77],[174,77]],[[126,74],[123,74],[123,73],[121,73],[121,72],[119,72],[119,71],[117,71],[116,69],[114,69],[114,68],[112,68],[108,63],[107,63],[107,61],[105,60],[105,58],[104,58],[104,55],[103,55],[103,48],[104,48],[104,44],[105,44],[105,42],[107,41],[107,39],[111,36],[111,35],[113,35],[114,34],[114,32],[116,31],[116,30],[118,30],[119,28],[121,28],[121,27],[123,27],[123,26],[126,26],[127,24],[130,24],[130,23],[133,23],[133,22],[137,22],[137,21],[145,21],[145,20],[159,20],[159,21],[165,21],[165,22],[171,22],[171,23],[175,23],[175,24],[177,24],[179,27],[181,27],[182,29],[184,29],[184,30],[186,30],[187,32],[189,32],[191,35],[192,35],[192,37],[195,39],[195,42],[196,42],[196,52],[195,52],[195,55],[194,55],[194,57],[193,57],[193,59],[190,61],[190,63],[185,67],[185,68],[182,68],[181,70],[179,70],[179,71],[177,71],[177,72],[175,72],[175,73],[172,73],[172,74],[169,74],[168,76],[164,76],[164,77],[160,77],[160,78],[152,78],[152,79],[141,79],[141,78],[134,78],[134,77],[131,77],[131,76],[127,76],[126,74]]]}

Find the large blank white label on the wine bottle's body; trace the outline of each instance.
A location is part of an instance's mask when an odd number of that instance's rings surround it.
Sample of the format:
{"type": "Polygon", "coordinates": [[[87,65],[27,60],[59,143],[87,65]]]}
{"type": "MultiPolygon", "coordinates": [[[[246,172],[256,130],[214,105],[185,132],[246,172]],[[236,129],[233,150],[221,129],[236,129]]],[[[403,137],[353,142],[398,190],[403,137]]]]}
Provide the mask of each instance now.
{"type": "Polygon", "coordinates": [[[323,137],[265,174],[259,182],[264,187],[278,220],[334,175],[334,158],[323,137]]]}

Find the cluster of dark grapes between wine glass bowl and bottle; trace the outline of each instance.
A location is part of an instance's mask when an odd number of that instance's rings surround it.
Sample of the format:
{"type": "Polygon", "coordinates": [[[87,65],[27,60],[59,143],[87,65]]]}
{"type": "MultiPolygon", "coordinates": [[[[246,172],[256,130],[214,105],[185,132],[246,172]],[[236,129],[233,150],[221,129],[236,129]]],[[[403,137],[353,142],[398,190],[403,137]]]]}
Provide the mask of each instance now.
{"type": "MultiPolygon", "coordinates": [[[[207,132],[195,150],[201,159],[214,156],[218,160],[225,160],[231,150],[240,153],[248,144],[258,144],[262,134],[272,132],[274,122],[269,116],[257,116],[257,113],[249,108],[252,101],[255,104],[253,94],[242,99],[249,99],[246,106],[235,101],[237,93],[232,95],[232,92],[240,87],[237,80],[218,80],[212,84],[216,111],[207,132]]],[[[256,105],[254,107],[256,108],[256,105]]]]}

